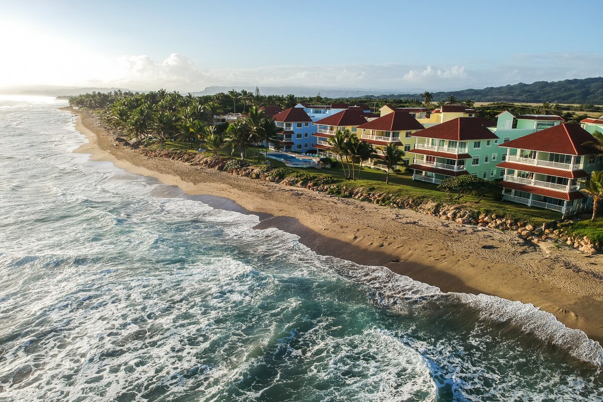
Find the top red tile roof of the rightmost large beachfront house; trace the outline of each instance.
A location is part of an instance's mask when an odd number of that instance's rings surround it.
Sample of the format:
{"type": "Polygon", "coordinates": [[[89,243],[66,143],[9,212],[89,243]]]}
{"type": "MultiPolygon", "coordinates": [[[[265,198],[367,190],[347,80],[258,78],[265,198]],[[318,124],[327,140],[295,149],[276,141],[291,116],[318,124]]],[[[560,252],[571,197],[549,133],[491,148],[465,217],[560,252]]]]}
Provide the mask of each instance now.
{"type": "MultiPolygon", "coordinates": [[[[436,126],[437,127],[437,126],[436,126]]],[[[595,149],[587,148],[582,144],[595,141],[588,131],[577,123],[562,123],[545,130],[536,131],[527,136],[519,137],[500,144],[504,148],[530,149],[531,151],[553,152],[564,155],[592,155],[597,154],[595,149]]]]}

